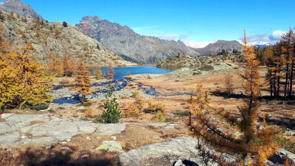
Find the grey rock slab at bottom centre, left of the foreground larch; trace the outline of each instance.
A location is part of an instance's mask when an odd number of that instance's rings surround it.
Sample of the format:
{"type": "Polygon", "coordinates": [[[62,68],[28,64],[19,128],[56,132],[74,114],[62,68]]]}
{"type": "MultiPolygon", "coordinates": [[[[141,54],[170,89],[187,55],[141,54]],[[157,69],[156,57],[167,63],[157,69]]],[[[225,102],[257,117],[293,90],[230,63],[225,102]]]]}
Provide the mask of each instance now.
{"type": "MultiPolygon", "coordinates": [[[[198,156],[199,150],[195,148],[197,143],[198,140],[191,137],[166,139],[162,143],[132,149],[126,153],[119,154],[116,158],[119,159],[122,166],[171,166],[176,163],[181,165],[182,163],[179,160],[189,160],[197,165],[202,165],[202,159],[198,156]]],[[[226,160],[234,161],[235,158],[227,155],[226,160]]]]}

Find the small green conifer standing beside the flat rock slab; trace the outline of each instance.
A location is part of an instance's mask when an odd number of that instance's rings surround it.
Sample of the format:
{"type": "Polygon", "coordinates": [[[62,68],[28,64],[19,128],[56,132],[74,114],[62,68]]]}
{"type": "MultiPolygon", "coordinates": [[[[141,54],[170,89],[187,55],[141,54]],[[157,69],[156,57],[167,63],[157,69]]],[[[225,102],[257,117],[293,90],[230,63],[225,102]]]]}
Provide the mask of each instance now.
{"type": "Polygon", "coordinates": [[[117,123],[121,118],[121,111],[118,108],[119,103],[113,94],[112,85],[109,84],[109,91],[106,92],[106,102],[104,102],[104,111],[101,114],[101,122],[103,123],[117,123]]]}

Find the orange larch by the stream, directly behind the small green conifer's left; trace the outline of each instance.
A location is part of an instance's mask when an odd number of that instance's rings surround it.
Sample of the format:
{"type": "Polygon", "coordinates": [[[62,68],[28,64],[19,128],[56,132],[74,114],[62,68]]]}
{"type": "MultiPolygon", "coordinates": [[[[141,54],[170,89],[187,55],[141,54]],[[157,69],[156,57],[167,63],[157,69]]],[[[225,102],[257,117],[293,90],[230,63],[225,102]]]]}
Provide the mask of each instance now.
{"type": "Polygon", "coordinates": [[[73,89],[75,89],[77,93],[82,94],[82,101],[84,102],[86,101],[86,95],[90,94],[91,76],[82,61],[78,64],[77,74],[75,77],[75,81],[78,86],[73,89]]]}

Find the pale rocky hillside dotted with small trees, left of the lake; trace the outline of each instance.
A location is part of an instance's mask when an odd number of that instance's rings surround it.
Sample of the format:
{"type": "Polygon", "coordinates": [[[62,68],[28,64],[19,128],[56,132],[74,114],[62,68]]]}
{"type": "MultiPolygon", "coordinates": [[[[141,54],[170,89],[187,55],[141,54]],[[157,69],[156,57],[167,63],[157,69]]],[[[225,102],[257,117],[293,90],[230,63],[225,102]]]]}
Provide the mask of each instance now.
{"type": "Polygon", "coordinates": [[[5,17],[5,21],[2,22],[6,29],[4,36],[13,47],[20,48],[25,42],[32,43],[35,58],[43,64],[50,61],[48,55],[53,53],[56,58],[62,58],[66,54],[70,60],[76,62],[82,59],[89,67],[108,66],[109,62],[114,66],[135,65],[124,61],[74,25],[68,24],[68,27],[63,27],[62,22],[44,22],[37,30],[33,19],[27,18],[25,21],[16,14],[14,18],[10,18],[6,12],[2,15],[5,17]],[[40,33],[39,36],[36,32],[40,33]]]}

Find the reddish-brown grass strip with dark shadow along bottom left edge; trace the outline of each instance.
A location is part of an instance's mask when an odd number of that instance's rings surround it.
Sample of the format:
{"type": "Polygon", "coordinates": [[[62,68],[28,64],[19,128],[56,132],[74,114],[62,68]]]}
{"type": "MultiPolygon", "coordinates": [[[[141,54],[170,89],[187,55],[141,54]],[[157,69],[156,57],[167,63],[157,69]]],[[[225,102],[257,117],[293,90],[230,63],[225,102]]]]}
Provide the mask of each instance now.
{"type": "Polygon", "coordinates": [[[117,165],[112,157],[117,153],[108,151],[90,151],[86,149],[61,149],[54,147],[22,147],[5,151],[0,148],[0,165],[30,165],[30,166],[109,166],[117,165]],[[87,157],[82,157],[88,154],[87,157]]]}

